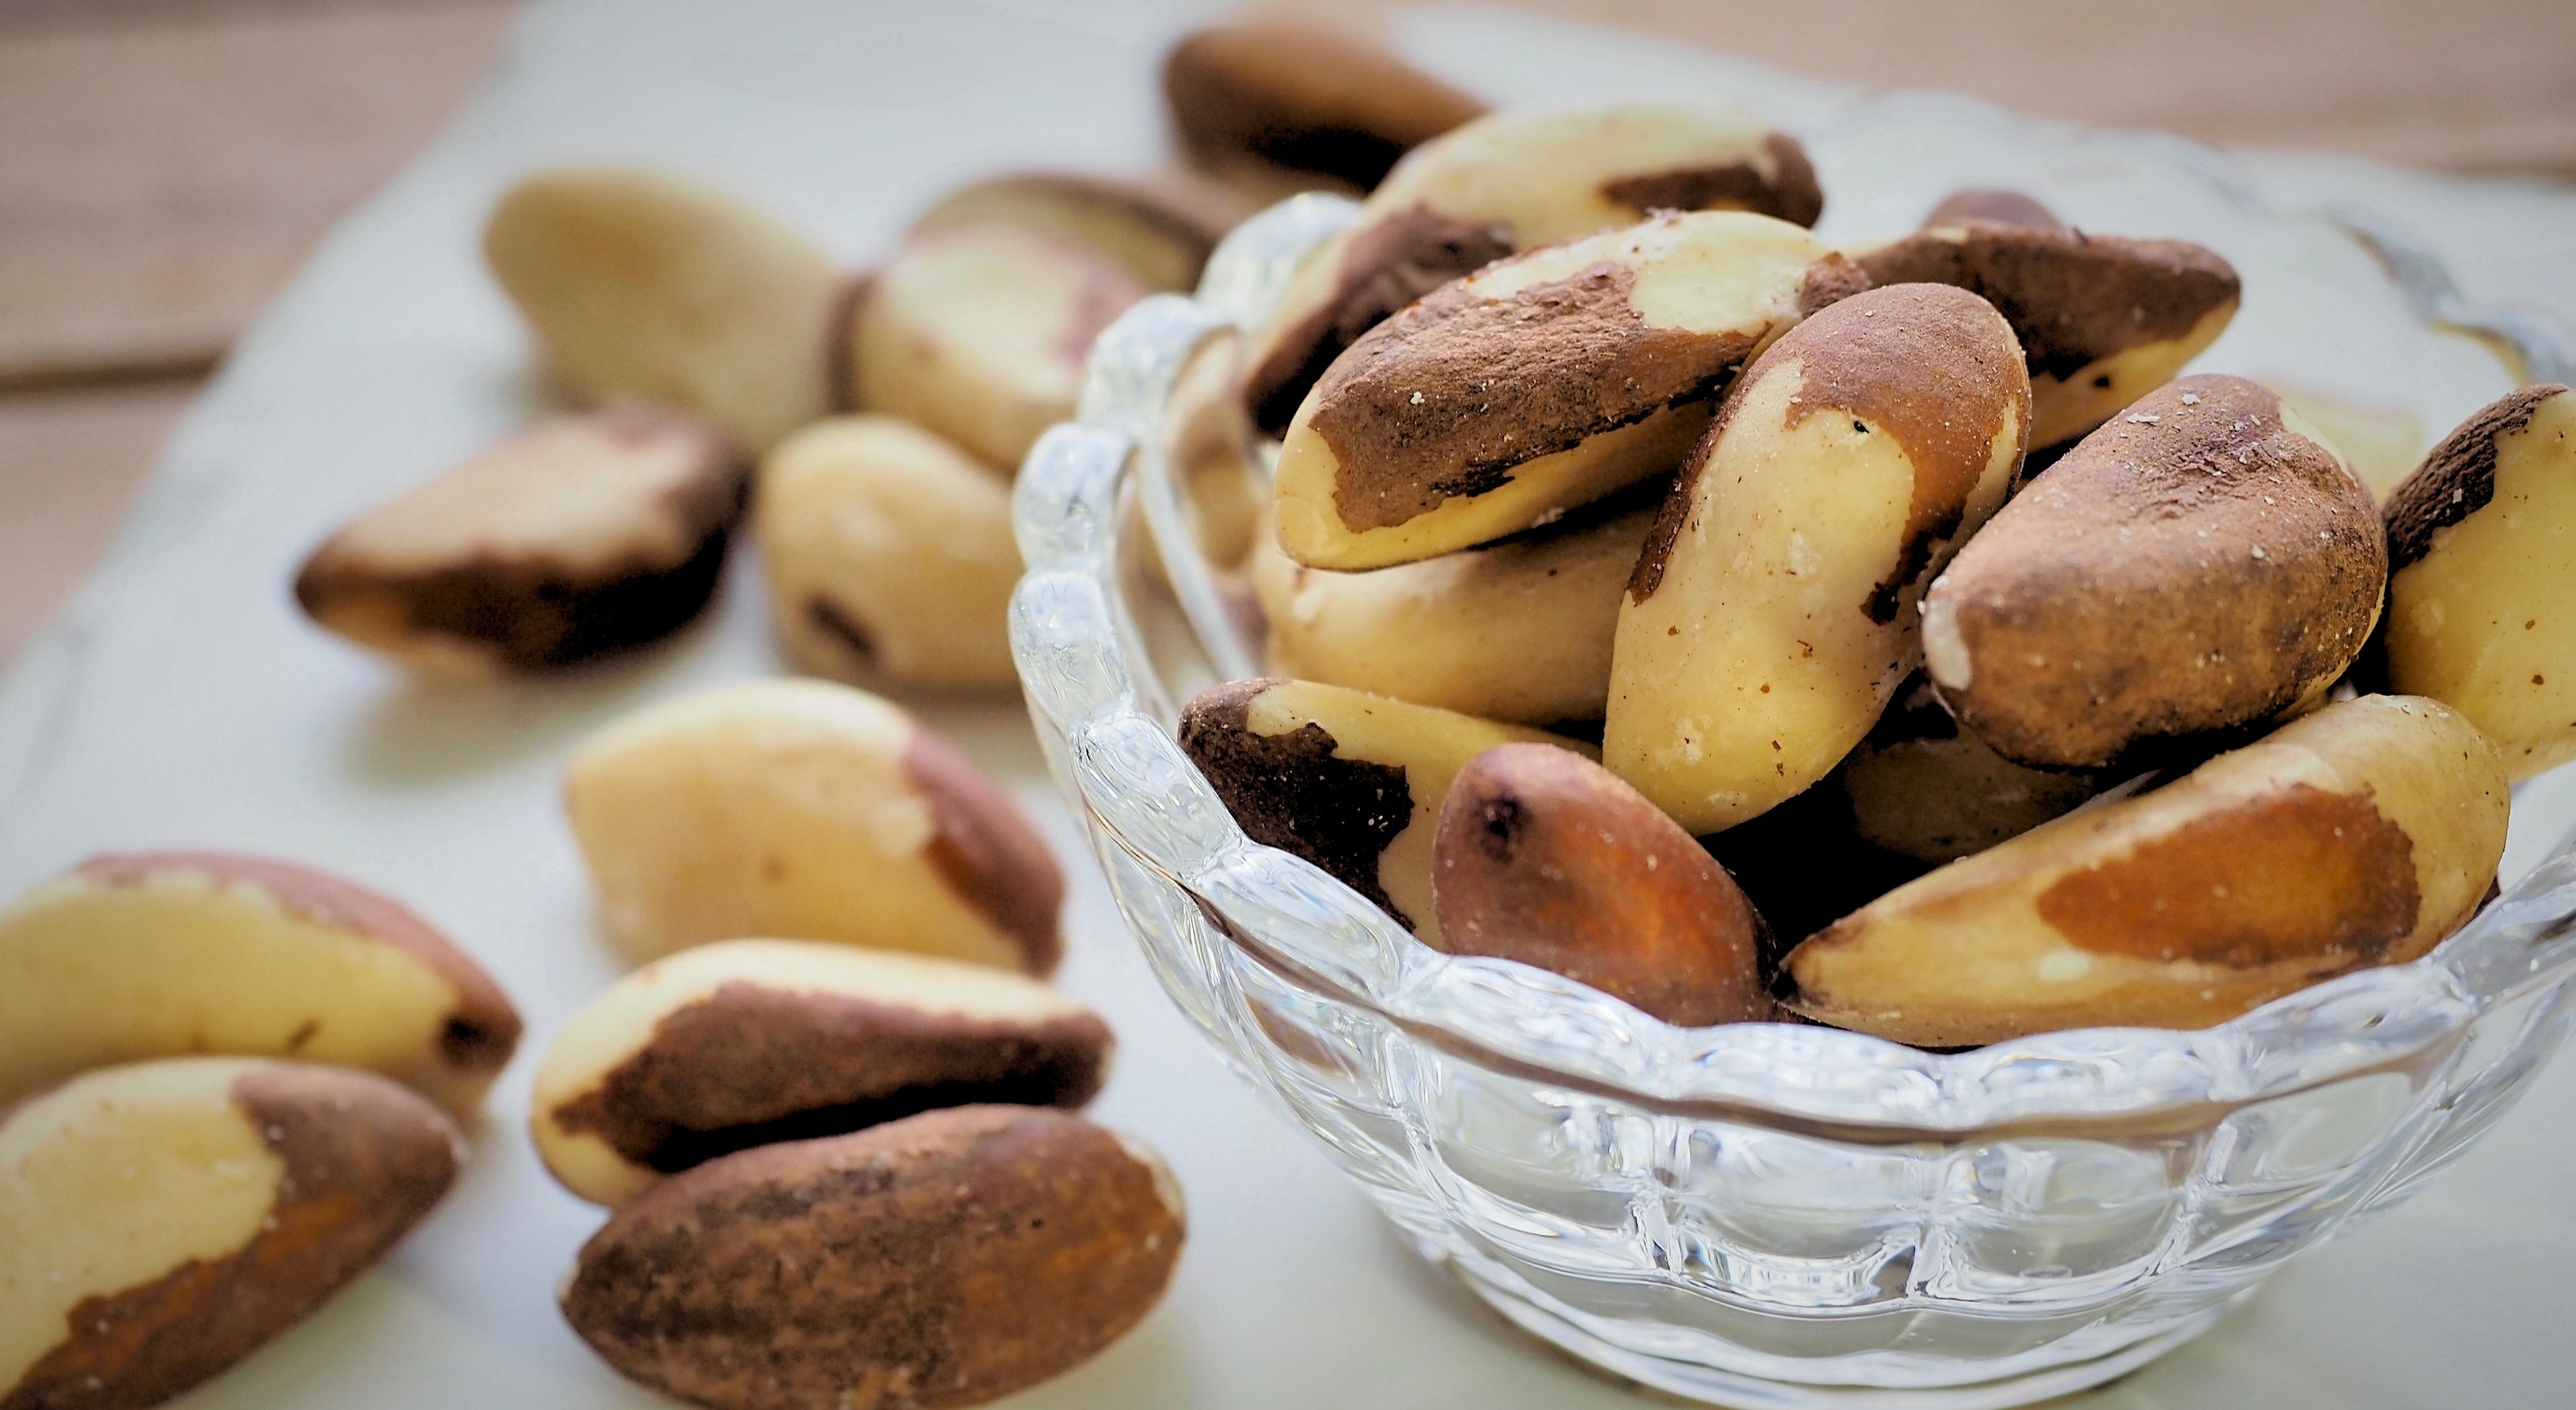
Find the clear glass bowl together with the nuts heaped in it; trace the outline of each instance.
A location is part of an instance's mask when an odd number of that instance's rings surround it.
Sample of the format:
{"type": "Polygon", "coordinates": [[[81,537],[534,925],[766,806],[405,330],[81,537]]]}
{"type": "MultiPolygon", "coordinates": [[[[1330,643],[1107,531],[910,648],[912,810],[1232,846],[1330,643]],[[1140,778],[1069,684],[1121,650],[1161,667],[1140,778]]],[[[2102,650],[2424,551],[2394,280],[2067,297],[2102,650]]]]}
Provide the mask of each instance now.
{"type": "Polygon", "coordinates": [[[1922,116],[1468,121],[1131,307],[1015,490],[1172,1000],[1507,1320],[1721,1405],[2141,1366],[2576,1008],[2550,351],[2460,420],[2483,353],[2146,139],[1819,237],[1950,175],[1922,116]],[[2452,402],[2391,456],[2300,353],[2452,402]]]}

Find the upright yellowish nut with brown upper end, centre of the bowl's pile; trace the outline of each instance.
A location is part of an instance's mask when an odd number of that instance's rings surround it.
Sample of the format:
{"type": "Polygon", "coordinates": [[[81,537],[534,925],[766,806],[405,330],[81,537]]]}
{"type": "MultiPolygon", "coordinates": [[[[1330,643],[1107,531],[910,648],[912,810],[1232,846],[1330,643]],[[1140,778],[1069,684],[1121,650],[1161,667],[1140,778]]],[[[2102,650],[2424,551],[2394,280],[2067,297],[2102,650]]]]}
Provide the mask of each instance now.
{"type": "Polygon", "coordinates": [[[1824,778],[1919,665],[1922,585],[2027,428],[2022,351],[1976,294],[1873,289],[1772,343],[1638,557],[1602,760],[1692,833],[1824,778]]]}

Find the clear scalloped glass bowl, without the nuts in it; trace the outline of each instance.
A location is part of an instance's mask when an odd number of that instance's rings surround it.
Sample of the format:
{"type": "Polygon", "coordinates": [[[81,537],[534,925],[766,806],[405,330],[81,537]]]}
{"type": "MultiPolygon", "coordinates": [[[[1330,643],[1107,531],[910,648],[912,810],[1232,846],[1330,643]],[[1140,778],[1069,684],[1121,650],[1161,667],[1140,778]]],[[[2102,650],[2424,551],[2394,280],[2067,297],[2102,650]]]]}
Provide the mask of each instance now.
{"type": "MultiPolygon", "coordinates": [[[[2208,152],[2058,131],[1963,170],[1968,129],[2004,119],[1924,103],[1870,101],[1811,134],[1826,191],[1837,168],[1873,175],[1909,219],[1947,186],[2012,183],[2076,219],[2128,211],[2117,229],[2197,237],[2249,289],[2202,366],[2262,374],[2311,348],[2344,381],[2306,389],[2383,428],[2416,423],[2414,449],[2512,384],[2427,333],[2349,237],[2264,211],[2208,152]],[[2375,343],[2342,356],[2354,338],[2375,343]]],[[[1437,954],[1252,843],[1172,729],[1180,699],[1260,665],[1242,593],[1208,562],[1247,531],[1224,474],[1257,464],[1224,384],[1242,330],[1352,214],[1285,201],[1226,240],[1195,299],[1149,299],[1100,338],[1079,420],[1020,472],[1012,652],[1164,990],[1504,1317],[1721,1405],[2074,1392],[2403,1199],[2561,1044],[2568,768],[2519,789],[2501,900],[2421,961],[2205,1031],[1958,1054],[1814,1026],[1674,1029],[1540,969],[1437,954]]]]}

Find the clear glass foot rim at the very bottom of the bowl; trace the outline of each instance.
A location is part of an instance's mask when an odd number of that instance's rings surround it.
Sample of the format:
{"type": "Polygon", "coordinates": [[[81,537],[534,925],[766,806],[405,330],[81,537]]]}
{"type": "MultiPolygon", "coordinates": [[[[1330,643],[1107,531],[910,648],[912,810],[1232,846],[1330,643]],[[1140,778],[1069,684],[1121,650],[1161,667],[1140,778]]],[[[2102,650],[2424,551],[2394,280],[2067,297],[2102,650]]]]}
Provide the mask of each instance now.
{"type": "MultiPolygon", "coordinates": [[[[2241,1297],[2231,1297],[2218,1307],[2195,1312],[2192,1317],[2174,1322],[2172,1328],[2133,1340],[2115,1351],[2107,1351],[2092,1361],[2071,1361],[2063,1366],[2043,1366],[2038,1371],[2025,1371],[2017,1376],[2002,1376],[1991,1382],[1973,1384],[1942,1384],[1942,1387],[1860,1387],[1860,1384],[1808,1384],[1808,1382],[1775,1382],[1767,1376],[1749,1376],[1741,1371],[1721,1371],[1716,1366],[1703,1366],[1695,1361],[1672,1361],[1664,1356],[1638,1353],[1623,1346],[1613,1346],[1584,1328],[1569,1322],[1558,1312],[1540,1307],[1499,1281],[1479,1276],[1468,1260],[1443,1258],[1427,1250],[1435,1263],[1445,1266],[1484,1299],[1486,1307],[1502,1312],[1512,1325],[1546,1340],[1548,1346],[1584,1361],[1592,1369],[1607,1371],[1613,1376],[1636,1382],[1649,1389],[1659,1389],[1682,1400],[1698,1400],[1705,1405],[1731,1405],[1739,1410],[2007,1410],[2012,1405],[2032,1405],[2038,1400],[2050,1400],[2058,1395],[2074,1395],[2079,1389],[2092,1389],[2105,1382],[2115,1382],[2138,1366],[2164,1356],[2166,1351],[2197,1338],[2200,1333],[2218,1325],[2241,1297]]],[[[2251,1289],[2246,1289],[2251,1291],[2251,1289]]]]}

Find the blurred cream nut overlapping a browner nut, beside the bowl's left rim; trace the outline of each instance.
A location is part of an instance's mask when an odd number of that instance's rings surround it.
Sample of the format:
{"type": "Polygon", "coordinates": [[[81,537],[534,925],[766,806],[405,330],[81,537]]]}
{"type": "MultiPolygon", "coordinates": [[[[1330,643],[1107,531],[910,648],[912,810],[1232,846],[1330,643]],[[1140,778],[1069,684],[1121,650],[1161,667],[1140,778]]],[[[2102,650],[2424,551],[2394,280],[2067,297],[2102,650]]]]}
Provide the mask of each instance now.
{"type": "Polygon", "coordinates": [[[1018,224],[914,235],[848,296],[832,384],[1020,469],[1074,415],[1092,338],[1146,296],[1126,266],[1018,224]]]}

